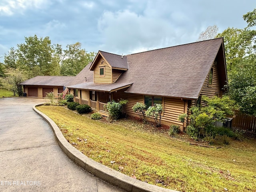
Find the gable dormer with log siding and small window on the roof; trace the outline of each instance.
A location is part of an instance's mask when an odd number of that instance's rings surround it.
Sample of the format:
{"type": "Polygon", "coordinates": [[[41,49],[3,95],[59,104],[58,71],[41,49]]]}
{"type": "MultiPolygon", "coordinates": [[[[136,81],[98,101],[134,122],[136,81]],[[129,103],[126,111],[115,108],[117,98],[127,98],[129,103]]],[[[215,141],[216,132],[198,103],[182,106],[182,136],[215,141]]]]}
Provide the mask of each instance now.
{"type": "Polygon", "coordinates": [[[90,70],[94,71],[94,83],[114,83],[128,70],[126,56],[99,51],[90,70]]]}

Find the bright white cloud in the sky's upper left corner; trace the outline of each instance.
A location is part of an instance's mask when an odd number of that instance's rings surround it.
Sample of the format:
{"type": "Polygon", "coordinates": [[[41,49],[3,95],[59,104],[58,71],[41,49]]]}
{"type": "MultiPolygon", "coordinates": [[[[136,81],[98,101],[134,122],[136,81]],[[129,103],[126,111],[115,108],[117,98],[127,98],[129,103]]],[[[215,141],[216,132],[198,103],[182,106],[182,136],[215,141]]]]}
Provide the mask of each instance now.
{"type": "Polygon", "coordinates": [[[0,14],[11,16],[15,13],[23,13],[27,9],[44,8],[49,0],[1,0],[0,14]]]}

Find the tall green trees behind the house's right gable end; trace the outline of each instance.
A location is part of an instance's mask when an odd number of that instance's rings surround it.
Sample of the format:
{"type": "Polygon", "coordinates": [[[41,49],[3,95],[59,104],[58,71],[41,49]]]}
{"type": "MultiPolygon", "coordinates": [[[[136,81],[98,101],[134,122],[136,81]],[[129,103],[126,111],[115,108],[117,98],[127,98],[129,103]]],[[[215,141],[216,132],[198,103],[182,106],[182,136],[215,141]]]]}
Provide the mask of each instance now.
{"type": "Polygon", "coordinates": [[[216,25],[203,31],[198,40],[224,37],[228,95],[245,114],[256,115],[256,9],[243,15],[247,26],[228,27],[218,33],[216,25]]]}

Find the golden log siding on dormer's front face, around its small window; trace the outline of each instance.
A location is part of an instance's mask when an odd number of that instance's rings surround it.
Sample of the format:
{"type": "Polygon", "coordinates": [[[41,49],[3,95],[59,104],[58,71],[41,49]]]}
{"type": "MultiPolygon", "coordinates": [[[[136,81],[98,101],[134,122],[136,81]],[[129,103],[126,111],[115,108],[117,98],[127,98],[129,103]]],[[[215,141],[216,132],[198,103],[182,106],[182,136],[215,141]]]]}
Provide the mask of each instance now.
{"type": "Polygon", "coordinates": [[[94,83],[112,83],[112,68],[103,58],[94,66],[94,83]],[[100,76],[100,67],[104,67],[104,76],[100,76]]]}

